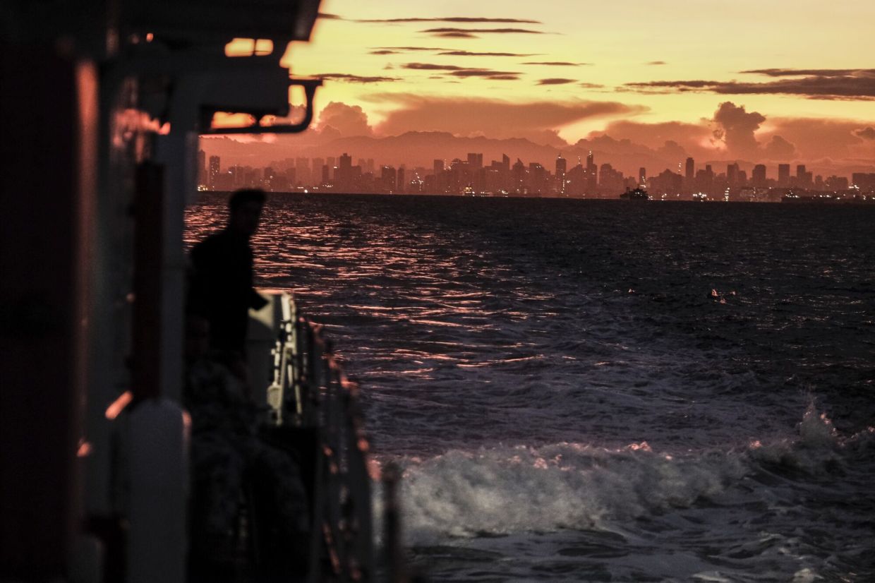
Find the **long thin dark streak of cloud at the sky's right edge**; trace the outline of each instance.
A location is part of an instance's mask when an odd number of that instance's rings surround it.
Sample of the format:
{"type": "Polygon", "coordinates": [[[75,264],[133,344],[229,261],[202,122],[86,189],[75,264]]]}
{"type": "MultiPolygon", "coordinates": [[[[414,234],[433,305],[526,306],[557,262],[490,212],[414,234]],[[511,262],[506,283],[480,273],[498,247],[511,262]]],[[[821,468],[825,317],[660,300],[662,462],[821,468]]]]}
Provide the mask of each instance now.
{"type": "MultiPolygon", "coordinates": [[[[745,73],[760,73],[780,77],[763,83],[741,81],[647,81],[626,83],[623,87],[639,93],[670,93],[672,91],[705,91],[724,95],[781,94],[802,95],[810,99],[875,99],[875,69],[825,70],[825,74],[786,78],[791,74],[806,74],[814,69],[760,69],[745,73]],[[850,73],[849,73],[850,71],[850,73]]],[[[823,73],[823,71],[821,71],[823,73]]]]}

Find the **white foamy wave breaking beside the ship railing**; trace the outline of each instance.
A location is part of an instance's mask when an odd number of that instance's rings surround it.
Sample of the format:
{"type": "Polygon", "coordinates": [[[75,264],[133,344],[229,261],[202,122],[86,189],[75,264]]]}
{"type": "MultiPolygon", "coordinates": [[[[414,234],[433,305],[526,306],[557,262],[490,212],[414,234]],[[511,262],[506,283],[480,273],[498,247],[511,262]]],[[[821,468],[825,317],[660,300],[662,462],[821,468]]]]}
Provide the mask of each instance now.
{"type": "Polygon", "coordinates": [[[734,488],[746,476],[759,483],[762,472],[791,480],[800,470],[829,473],[849,455],[871,453],[873,444],[875,428],[843,437],[809,407],[793,438],[726,451],[557,443],[457,449],[396,463],[403,469],[406,536],[418,545],[522,531],[612,530],[671,509],[749,504],[760,496],[752,498],[749,486],[734,488]]]}

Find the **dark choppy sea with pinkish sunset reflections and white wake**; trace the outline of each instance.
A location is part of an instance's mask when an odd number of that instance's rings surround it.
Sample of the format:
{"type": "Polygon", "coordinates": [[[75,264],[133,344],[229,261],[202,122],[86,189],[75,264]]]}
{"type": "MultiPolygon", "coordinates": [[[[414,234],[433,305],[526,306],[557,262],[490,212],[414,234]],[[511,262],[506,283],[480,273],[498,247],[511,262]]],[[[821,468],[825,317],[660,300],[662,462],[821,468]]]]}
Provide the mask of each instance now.
{"type": "Polygon", "coordinates": [[[875,580],[875,207],[272,195],[253,247],[430,580],[875,580]]]}

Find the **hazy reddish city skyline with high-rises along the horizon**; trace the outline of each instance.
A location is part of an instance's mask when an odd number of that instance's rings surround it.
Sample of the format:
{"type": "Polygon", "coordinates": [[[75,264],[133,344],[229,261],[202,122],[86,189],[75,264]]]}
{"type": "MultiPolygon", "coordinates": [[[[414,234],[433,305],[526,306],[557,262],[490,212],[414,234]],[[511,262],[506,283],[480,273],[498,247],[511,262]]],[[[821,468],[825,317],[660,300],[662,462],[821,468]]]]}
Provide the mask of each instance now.
{"type": "Polygon", "coordinates": [[[577,165],[568,167],[560,153],[553,169],[541,162],[528,165],[502,155],[484,165],[481,152],[468,152],[465,159],[453,158],[449,164],[434,159],[430,168],[377,164],[374,158],[339,157],[286,158],[264,168],[230,165],[222,168],[219,156],[207,159],[199,152],[199,189],[230,191],[235,188],[263,188],[276,193],[384,193],[384,194],[464,194],[479,196],[534,196],[542,198],[613,199],[632,189],[650,189],[662,200],[737,200],[777,202],[790,198],[830,198],[875,201],[875,172],[854,172],[845,176],[823,177],[806,165],[779,164],[771,178],[768,166],[753,165],[750,178],[738,163],[720,172],[711,164],[697,166],[695,158],[678,164],[677,172],[664,169],[648,174],[646,167],[627,176],[609,161],[596,163],[592,152],[577,165]]]}

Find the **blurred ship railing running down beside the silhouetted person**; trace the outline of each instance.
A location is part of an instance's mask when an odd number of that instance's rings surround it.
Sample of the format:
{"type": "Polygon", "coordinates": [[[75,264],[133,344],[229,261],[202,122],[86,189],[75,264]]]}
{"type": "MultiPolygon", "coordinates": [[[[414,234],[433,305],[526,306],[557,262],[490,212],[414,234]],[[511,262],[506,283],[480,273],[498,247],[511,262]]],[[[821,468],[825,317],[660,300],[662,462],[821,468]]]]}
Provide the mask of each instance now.
{"type": "Polygon", "coordinates": [[[309,580],[373,581],[377,476],[368,464],[359,385],[346,377],[324,327],[307,319],[290,294],[277,295],[267,425],[312,442],[304,472],[311,482],[309,580]]]}

